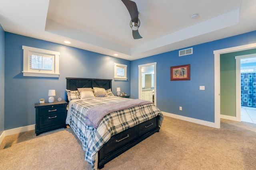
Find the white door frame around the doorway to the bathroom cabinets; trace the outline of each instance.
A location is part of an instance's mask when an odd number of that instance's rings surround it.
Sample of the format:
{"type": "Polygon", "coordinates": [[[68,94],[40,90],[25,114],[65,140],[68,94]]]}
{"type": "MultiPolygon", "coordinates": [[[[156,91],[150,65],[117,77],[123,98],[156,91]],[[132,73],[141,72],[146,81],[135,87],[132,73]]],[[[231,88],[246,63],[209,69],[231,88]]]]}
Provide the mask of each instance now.
{"type": "Polygon", "coordinates": [[[148,64],[141,64],[138,65],[139,67],[139,96],[138,98],[141,99],[141,93],[142,93],[142,67],[146,67],[146,66],[154,66],[154,104],[156,105],[156,62],[154,63],[148,63],[148,64]]]}

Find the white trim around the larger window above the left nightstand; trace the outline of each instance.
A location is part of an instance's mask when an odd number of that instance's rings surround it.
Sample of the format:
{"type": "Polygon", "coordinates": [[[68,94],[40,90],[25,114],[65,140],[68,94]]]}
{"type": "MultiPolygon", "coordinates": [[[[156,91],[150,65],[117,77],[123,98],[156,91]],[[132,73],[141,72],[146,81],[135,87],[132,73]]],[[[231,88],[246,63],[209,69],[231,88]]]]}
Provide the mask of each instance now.
{"type": "Polygon", "coordinates": [[[22,45],[23,49],[23,76],[36,76],[36,77],[59,77],[59,58],[60,52],[38,49],[34,47],[27,47],[22,45]],[[38,70],[38,72],[33,72],[30,69],[30,56],[29,52],[35,53],[42,53],[46,55],[54,55],[54,62],[53,62],[53,73],[48,73],[44,70],[38,70]]]}

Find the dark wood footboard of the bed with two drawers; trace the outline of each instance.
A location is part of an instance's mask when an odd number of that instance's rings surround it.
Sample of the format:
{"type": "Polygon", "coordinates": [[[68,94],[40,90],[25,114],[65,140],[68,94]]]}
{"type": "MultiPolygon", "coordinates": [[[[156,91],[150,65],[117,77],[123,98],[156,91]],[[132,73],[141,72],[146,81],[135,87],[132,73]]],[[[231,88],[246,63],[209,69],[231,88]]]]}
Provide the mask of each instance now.
{"type": "Polygon", "coordinates": [[[98,152],[98,168],[103,168],[104,164],[159,132],[159,129],[159,116],[157,116],[112,136],[98,152]]]}

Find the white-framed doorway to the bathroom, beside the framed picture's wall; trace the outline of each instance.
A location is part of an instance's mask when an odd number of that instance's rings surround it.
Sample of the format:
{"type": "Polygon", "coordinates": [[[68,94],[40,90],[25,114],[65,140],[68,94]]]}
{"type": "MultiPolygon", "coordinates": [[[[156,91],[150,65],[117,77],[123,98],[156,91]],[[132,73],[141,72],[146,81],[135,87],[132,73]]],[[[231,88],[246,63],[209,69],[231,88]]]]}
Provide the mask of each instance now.
{"type": "Polygon", "coordinates": [[[139,65],[138,98],[156,105],[156,63],[139,65]]]}

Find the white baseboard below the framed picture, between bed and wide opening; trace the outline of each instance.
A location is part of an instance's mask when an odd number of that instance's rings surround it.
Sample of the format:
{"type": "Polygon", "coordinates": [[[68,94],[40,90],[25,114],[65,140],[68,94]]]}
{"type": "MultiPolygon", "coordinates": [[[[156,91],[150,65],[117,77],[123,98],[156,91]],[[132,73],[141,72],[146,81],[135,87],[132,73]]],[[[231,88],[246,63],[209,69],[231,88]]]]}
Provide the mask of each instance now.
{"type": "Polygon", "coordinates": [[[176,114],[167,113],[167,112],[164,112],[164,111],[162,111],[162,113],[163,113],[164,116],[172,117],[172,118],[175,118],[175,119],[180,119],[180,120],[189,121],[189,122],[192,122],[192,123],[197,123],[197,124],[204,125],[204,126],[218,128],[218,125],[216,125],[216,123],[214,123],[214,122],[204,121],[204,120],[200,120],[200,119],[194,119],[194,118],[191,118],[191,117],[176,115],[176,114]]]}

